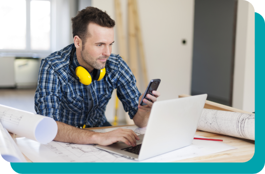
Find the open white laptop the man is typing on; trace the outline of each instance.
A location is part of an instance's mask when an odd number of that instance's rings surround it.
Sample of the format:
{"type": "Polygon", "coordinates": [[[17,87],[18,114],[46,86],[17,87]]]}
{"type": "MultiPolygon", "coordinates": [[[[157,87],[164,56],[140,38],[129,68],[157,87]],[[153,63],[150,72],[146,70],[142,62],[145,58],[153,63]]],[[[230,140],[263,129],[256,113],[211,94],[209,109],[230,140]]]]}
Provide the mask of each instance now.
{"type": "Polygon", "coordinates": [[[207,94],[156,101],[152,106],[145,134],[139,135],[137,146],[124,142],[97,148],[133,160],[145,160],[192,143],[207,94]]]}

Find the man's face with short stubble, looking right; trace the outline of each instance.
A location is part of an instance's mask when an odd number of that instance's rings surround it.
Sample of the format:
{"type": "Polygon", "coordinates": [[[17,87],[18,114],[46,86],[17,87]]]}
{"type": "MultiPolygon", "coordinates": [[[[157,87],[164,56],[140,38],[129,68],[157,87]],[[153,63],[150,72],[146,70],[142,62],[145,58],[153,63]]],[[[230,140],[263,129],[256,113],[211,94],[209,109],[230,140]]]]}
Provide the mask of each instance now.
{"type": "Polygon", "coordinates": [[[92,68],[103,69],[111,54],[114,30],[89,23],[88,32],[90,36],[86,38],[87,42],[82,46],[81,56],[92,68]]]}

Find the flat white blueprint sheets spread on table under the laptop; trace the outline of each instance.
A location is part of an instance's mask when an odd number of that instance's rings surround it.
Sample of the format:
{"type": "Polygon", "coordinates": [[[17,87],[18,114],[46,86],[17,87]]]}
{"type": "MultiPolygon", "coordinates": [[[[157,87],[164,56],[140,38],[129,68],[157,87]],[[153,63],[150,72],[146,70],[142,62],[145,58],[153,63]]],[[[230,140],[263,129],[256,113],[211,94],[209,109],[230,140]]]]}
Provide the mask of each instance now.
{"type": "MultiPolygon", "coordinates": [[[[131,129],[137,135],[145,133],[145,129],[138,128],[136,126],[128,126],[122,128],[131,129]]],[[[115,129],[118,128],[101,129],[94,131],[107,132],[115,129]]],[[[203,137],[203,136],[195,135],[195,137],[203,137]]],[[[60,163],[137,162],[122,157],[120,155],[116,155],[110,152],[97,149],[96,147],[94,147],[95,146],[94,144],[72,144],[72,143],[64,143],[57,141],[51,141],[50,143],[47,144],[41,144],[39,142],[27,138],[16,138],[15,142],[18,145],[21,152],[25,154],[32,162],[60,162],[60,163]]],[[[224,144],[222,142],[194,139],[192,144],[187,147],[183,147],[175,151],[168,152],[140,162],[148,162],[148,163],[173,162],[177,160],[183,160],[187,158],[218,153],[230,149],[236,149],[236,148],[224,144]]]]}

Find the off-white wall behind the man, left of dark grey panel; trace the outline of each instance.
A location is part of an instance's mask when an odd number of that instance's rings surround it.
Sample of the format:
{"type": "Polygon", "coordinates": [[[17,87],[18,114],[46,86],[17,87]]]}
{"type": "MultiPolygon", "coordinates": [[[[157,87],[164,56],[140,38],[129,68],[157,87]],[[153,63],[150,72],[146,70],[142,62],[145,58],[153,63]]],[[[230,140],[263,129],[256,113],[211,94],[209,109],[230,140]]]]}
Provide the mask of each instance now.
{"type": "MultiPolygon", "coordinates": [[[[148,79],[161,79],[158,100],[177,98],[179,94],[190,94],[194,0],[137,0],[142,30],[142,40],[146,58],[148,79]],[[187,44],[182,44],[182,39],[187,44]]],[[[114,0],[91,0],[91,6],[97,7],[114,20],[114,0]]],[[[121,0],[123,24],[127,33],[127,0],[121,0]]],[[[116,30],[112,53],[118,54],[116,30]]],[[[139,87],[144,92],[145,87],[139,87]]],[[[106,117],[114,117],[113,97],[107,105],[106,117]]],[[[121,109],[122,105],[120,105],[121,109]]],[[[120,111],[120,119],[124,113],[120,111]]]]}

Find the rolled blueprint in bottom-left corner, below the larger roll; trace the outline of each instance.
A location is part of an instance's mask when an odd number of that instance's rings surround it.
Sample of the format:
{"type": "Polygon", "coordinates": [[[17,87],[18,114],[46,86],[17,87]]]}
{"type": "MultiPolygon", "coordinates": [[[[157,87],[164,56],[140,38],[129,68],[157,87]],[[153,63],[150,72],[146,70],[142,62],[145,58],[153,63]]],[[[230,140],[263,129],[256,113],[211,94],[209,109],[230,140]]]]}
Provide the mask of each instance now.
{"type": "Polygon", "coordinates": [[[9,163],[27,162],[10,134],[0,123],[0,154],[9,163]]]}

